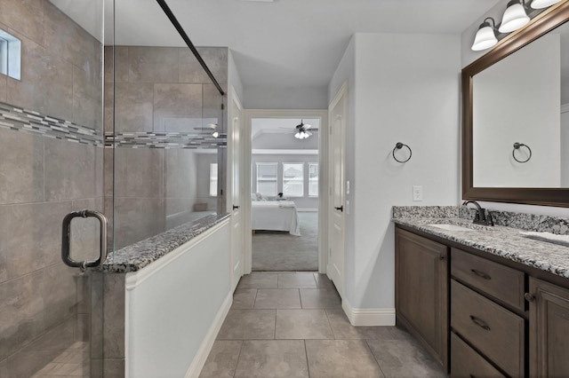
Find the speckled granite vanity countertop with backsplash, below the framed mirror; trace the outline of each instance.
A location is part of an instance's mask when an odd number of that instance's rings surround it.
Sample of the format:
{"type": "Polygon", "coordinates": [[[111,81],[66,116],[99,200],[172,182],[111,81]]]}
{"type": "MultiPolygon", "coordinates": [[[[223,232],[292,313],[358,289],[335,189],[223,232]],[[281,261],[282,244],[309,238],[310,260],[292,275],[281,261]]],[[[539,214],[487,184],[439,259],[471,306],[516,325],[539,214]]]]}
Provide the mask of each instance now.
{"type": "MultiPolygon", "coordinates": [[[[410,207],[424,209],[413,209],[409,212],[404,211],[409,207],[397,208],[396,211],[396,207],[394,207],[393,211],[393,222],[396,224],[413,227],[422,232],[437,235],[446,240],[453,240],[464,246],[502,256],[517,263],[533,266],[569,279],[569,247],[547,241],[532,240],[519,233],[520,229],[549,232],[557,229],[558,231],[554,233],[561,233],[559,231],[565,230],[564,227],[567,227],[567,219],[565,218],[532,215],[518,217],[517,214],[519,213],[492,211],[493,216],[496,213],[501,213],[497,214],[497,218],[501,219],[500,221],[494,218],[496,224],[499,224],[498,222],[500,224],[513,224],[516,228],[503,225],[488,227],[472,224],[469,219],[464,217],[431,217],[430,214],[433,214],[433,211],[437,213],[437,210],[427,208],[438,207],[410,207]],[[507,218],[508,216],[510,218],[507,218]],[[431,224],[456,224],[472,231],[449,231],[431,224]],[[546,229],[546,226],[549,228],[546,229]]],[[[458,211],[458,208],[456,209],[458,211]]],[[[463,214],[463,216],[466,215],[468,212],[463,214]]]]}

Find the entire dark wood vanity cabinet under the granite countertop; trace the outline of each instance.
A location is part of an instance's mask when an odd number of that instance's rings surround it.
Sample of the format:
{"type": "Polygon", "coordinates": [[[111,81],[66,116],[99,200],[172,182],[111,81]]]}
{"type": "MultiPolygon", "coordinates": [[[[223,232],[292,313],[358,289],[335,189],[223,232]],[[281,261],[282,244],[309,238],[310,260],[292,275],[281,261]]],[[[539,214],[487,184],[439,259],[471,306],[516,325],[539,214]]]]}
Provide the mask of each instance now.
{"type": "Polygon", "coordinates": [[[569,377],[569,280],[551,273],[397,226],[396,317],[452,377],[569,377]]]}

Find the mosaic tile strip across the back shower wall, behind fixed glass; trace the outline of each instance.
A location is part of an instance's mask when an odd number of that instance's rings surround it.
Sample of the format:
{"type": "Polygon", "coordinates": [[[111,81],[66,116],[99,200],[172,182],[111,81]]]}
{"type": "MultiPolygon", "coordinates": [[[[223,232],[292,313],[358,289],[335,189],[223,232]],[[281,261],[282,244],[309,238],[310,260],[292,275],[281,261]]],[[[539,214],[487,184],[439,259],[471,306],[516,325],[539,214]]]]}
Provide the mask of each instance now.
{"type": "Polygon", "coordinates": [[[209,133],[200,132],[121,132],[113,135],[105,133],[105,147],[130,148],[186,148],[216,149],[227,146],[228,139],[224,134],[213,138],[209,133]]]}

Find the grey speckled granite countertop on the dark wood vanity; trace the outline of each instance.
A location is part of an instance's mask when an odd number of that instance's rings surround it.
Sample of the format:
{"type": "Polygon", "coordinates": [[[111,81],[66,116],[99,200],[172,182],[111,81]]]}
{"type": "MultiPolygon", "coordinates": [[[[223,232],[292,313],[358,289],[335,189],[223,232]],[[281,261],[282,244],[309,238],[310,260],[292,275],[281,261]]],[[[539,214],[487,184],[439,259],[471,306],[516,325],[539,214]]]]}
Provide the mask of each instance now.
{"type": "Polygon", "coordinates": [[[451,208],[439,207],[438,210],[422,213],[416,209],[405,211],[404,208],[394,208],[393,222],[569,278],[569,247],[529,239],[520,234],[527,229],[472,224],[471,220],[459,217],[459,213],[451,208]],[[451,231],[429,224],[455,224],[471,231],[451,231]]]}

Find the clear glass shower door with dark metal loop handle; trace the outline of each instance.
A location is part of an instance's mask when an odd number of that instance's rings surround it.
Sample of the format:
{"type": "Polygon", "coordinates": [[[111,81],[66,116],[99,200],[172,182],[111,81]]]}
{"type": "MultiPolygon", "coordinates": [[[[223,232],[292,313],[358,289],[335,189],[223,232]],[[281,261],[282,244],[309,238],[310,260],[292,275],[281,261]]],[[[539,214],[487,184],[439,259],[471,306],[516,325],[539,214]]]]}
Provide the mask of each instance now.
{"type": "MultiPolygon", "coordinates": [[[[102,283],[61,222],[104,211],[103,0],[0,5],[0,376],[101,376],[102,283]]],[[[96,259],[100,224],[71,222],[96,259]]]]}

